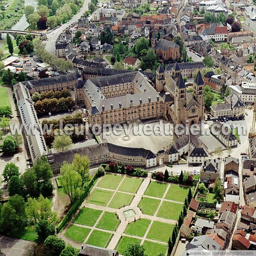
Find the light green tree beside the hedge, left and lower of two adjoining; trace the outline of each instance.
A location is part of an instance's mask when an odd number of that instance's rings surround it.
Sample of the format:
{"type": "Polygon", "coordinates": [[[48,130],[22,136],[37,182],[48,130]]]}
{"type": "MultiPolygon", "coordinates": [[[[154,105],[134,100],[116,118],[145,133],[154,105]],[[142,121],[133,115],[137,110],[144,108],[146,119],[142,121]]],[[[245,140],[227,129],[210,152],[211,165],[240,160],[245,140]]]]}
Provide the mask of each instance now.
{"type": "Polygon", "coordinates": [[[59,180],[65,194],[68,195],[71,204],[73,204],[81,194],[81,176],[76,173],[72,165],[64,163],[61,167],[61,174],[59,176],[59,180]]]}

